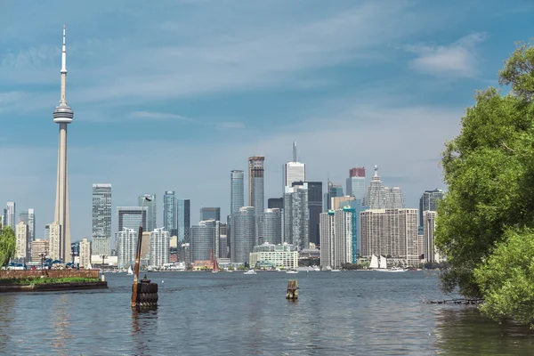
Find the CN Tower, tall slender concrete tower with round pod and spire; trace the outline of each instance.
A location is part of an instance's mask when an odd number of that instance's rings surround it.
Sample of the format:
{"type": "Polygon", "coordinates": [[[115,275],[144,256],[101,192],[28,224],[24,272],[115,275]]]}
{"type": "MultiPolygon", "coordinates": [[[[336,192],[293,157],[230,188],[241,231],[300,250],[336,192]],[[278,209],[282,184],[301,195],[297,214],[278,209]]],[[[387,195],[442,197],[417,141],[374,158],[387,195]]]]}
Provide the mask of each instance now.
{"type": "Polygon", "coordinates": [[[69,174],[67,163],[67,125],[72,122],[74,112],[67,104],[67,49],[65,47],[65,26],[61,51],[61,95],[60,104],[53,110],[53,122],[60,124],[60,146],[58,148],[58,181],[56,183],[56,205],[54,223],[60,224],[60,255],[63,262],[70,257],[69,219],[69,174]]]}

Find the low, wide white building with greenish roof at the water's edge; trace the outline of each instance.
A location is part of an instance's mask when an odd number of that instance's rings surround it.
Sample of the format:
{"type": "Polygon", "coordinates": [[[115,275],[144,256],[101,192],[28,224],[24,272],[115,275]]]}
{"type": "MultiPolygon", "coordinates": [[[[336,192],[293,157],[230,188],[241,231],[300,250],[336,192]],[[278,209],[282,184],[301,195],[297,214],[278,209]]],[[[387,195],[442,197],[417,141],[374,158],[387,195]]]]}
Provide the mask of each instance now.
{"type": "Polygon", "coordinates": [[[255,268],[277,268],[295,270],[298,267],[298,251],[287,243],[265,242],[255,246],[249,256],[250,266],[255,268]]]}

